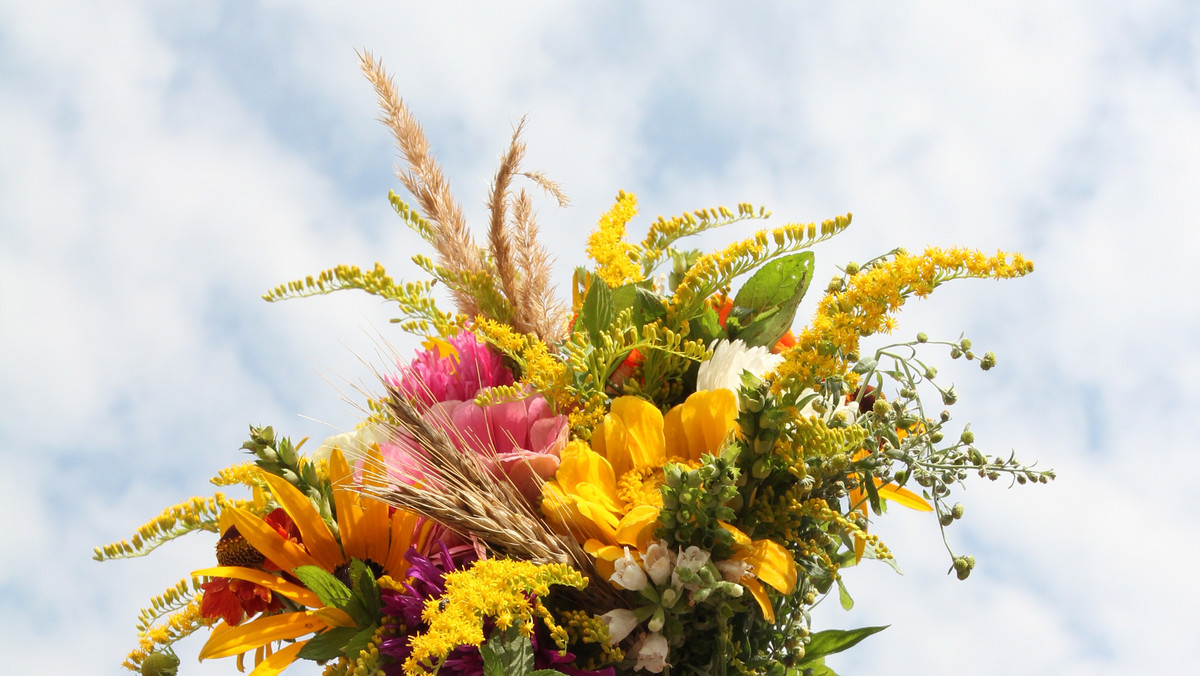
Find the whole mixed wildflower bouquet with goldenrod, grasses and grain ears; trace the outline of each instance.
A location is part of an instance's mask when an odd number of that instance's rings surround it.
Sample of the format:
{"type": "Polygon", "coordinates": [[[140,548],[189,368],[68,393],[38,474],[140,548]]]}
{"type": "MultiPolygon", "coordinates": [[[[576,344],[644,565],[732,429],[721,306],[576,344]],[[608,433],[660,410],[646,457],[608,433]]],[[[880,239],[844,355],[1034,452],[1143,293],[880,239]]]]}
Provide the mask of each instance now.
{"type": "MultiPolygon", "coordinates": [[[[198,632],[200,659],[248,659],[254,676],[296,660],[329,675],[828,675],[826,656],[882,629],[814,633],[809,615],[824,594],[850,606],[847,568],[895,567],[872,518],[895,503],[944,528],[970,474],[1054,478],[984,454],[970,429],[948,433],[954,388],[926,351],[983,370],[990,352],[923,334],[860,345],[946,281],[1030,273],[1021,256],[895,250],[847,264],[793,333],[809,249],[848,214],[702,253],[682,243],[769,214],[660,217],[635,244],[636,199],[619,193],[568,306],[530,196],[512,187],[528,179],[562,199],[522,171],[521,127],[476,246],[420,126],[370,55],[362,66],[416,208],[389,198],[431,245],[433,258],[414,257],[431,279],[341,265],[265,299],[361,289],[390,301],[424,349],[382,375],[353,432],[305,454],[251,427],[251,460],[212,479],[245,497],[193,498],[96,550],[120,558],[218,536],[215,561],[143,611],[130,670],[175,674],[172,644],[198,632]]],[[[966,578],[974,560],[950,557],[966,578]]]]}

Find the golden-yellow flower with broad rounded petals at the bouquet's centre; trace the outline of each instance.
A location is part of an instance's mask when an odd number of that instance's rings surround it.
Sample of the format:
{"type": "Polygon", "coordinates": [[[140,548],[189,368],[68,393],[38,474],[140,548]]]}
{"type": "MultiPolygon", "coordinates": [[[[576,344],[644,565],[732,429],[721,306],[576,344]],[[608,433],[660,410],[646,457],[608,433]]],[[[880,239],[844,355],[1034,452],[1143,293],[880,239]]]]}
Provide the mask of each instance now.
{"type": "Polygon", "coordinates": [[[590,447],[574,441],[563,450],[542,487],[542,513],[601,561],[622,545],[644,549],[662,508],[662,466],[719,453],[737,412],[737,395],[725,389],[695,393],[666,415],[646,400],[617,397],[590,447]]]}

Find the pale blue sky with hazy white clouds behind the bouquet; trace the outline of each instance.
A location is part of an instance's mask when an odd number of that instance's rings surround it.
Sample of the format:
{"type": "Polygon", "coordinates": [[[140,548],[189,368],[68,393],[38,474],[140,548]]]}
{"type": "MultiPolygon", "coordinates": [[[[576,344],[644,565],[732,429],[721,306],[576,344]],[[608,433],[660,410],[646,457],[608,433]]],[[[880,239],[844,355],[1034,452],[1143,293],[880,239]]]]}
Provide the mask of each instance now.
{"type": "MultiPolygon", "coordinates": [[[[138,609],[206,566],[212,542],[103,564],[92,548],[211,495],[248,424],[314,441],[352,427],[343,393],[416,347],[366,295],[259,298],[338,263],[420,276],[355,49],[394,74],[476,232],[526,116],[526,166],[572,198],[536,203],[564,292],[618,190],[638,196],[635,235],[739,202],[774,223],[853,213],[815,250],[818,282],[896,246],[1032,258],[1028,277],[910,304],[896,337],[995,351],[988,373],[931,354],[959,391],[955,420],[1060,479],[968,486],[948,531],[978,561],[962,582],[931,518],[872,525],[904,575],[846,570],[853,610],[832,599],[815,623],[890,628],[829,663],[844,676],[1192,664],[1195,4],[340,5],[0,0],[13,672],[124,672],[138,609]]],[[[184,674],[233,669],[198,664],[199,644],[180,646],[184,674]]]]}

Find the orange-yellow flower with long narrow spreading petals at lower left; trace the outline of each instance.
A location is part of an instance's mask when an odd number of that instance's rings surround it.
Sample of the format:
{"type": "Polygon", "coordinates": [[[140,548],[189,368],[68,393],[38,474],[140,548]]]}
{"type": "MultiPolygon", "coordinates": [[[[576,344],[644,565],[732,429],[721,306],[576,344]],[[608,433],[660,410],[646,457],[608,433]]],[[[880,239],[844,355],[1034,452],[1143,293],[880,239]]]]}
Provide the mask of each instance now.
{"type": "MultiPolygon", "coordinates": [[[[368,466],[382,466],[378,448],[372,448],[368,466]]],[[[317,507],[299,489],[286,479],[263,473],[276,502],[288,513],[300,531],[298,544],[281,536],[253,513],[236,507],[222,513],[222,522],[238,527],[238,532],[263,556],[283,570],[295,570],[301,566],[317,566],[335,573],[348,566],[352,558],[378,564],[384,574],[403,579],[408,569],[404,552],[409,546],[424,546],[431,522],[420,522],[407,512],[391,512],[388,504],[362,498],[353,490],[354,472],[342,451],[334,449],[329,457],[330,483],[334,486],[334,505],[337,510],[337,531],[341,542],[320,518],[317,507]]],[[[378,479],[364,472],[364,483],[378,484],[378,479]]],[[[200,659],[241,656],[256,651],[257,666],[251,676],[272,676],[287,669],[307,641],[295,641],[282,650],[271,652],[276,641],[292,641],[330,627],[353,627],[350,617],[335,608],[325,606],[312,591],[289,582],[283,576],[236,566],[218,566],[192,573],[194,576],[233,578],[262,585],[280,596],[292,599],[311,610],[266,615],[239,624],[218,624],[200,650],[200,659]]]]}

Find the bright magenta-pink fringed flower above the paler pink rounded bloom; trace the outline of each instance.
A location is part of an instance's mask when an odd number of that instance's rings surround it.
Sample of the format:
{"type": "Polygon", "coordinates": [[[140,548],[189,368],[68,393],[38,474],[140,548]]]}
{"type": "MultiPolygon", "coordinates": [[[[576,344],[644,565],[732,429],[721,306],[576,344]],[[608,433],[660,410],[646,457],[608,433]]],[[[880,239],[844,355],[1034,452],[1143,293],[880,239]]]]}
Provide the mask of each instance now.
{"type": "Polygon", "coordinates": [[[485,388],[511,385],[512,371],[474,334],[460,331],[449,341],[418,353],[398,377],[386,381],[409,399],[432,406],[474,399],[485,388]]]}

